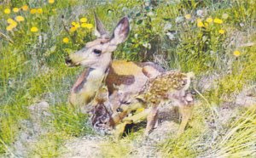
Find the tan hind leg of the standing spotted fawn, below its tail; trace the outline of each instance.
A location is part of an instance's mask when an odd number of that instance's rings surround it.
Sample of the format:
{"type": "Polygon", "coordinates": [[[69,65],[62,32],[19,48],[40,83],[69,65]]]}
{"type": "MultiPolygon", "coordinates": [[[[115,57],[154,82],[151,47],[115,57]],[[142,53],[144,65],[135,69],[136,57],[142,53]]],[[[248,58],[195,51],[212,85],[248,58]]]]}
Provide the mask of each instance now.
{"type": "Polygon", "coordinates": [[[180,115],[182,116],[182,121],[177,131],[178,135],[184,132],[185,127],[187,126],[188,121],[192,116],[193,107],[194,107],[193,104],[183,104],[179,106],[179,112],[180,112],[180,115]]]}

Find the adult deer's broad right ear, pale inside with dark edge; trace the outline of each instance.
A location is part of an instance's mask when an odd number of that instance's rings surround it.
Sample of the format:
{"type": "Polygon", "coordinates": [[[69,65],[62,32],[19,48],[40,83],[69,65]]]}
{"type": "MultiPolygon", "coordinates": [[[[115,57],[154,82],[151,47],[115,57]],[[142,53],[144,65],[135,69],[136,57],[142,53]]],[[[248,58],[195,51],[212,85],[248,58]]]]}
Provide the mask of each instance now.
{"type": "Polygon", "coordinates": [[[129,20],[127,17],[124,17],[119,21],[118,25],[115,27],[110,42],[116,45],[121,42],[124,42],[126,37],[128,37],[129,31],[129,20]]]}

